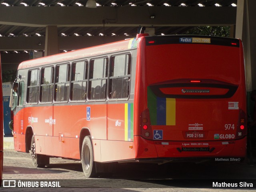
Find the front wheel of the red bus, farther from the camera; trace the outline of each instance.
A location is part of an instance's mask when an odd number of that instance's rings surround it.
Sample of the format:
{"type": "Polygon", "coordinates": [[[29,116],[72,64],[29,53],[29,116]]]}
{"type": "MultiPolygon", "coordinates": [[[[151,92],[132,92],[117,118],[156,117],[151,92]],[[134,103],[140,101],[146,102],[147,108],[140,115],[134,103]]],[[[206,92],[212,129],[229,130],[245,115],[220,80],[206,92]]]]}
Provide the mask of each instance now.
{"type": "Polygon", "coordinates": [[[44,167],[47,164],[50,164],[50,158],[46,155],[36,154],[36,142],[34,135],[31,139],[31,147],[30,147],[30,154],[32,158],[32,164],[34,167],[44,167]]]}

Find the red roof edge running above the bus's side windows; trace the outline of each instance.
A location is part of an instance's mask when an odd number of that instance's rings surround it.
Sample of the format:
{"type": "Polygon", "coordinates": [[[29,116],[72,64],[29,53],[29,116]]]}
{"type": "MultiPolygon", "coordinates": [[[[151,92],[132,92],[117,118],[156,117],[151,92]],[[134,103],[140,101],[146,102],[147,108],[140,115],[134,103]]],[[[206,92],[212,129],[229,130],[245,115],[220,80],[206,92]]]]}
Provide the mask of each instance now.
{"type": "Polygon", "coordinates": [[[56,55],[50,55],[50,56],[41,57],[38,59],[31,59],[31,60],[23,61],[22,63],[20,63],[20,65],[18,66],[18,69],[38,67],[42,65],[51,64],[51,63],[59,63],[63,61],[86,58],[86,57],[100,55],[104,53],[132,49],[132,48],[136,48],[136,43],[134,44],[135,41],[136,41],[135,38],[132,38],[132,39],[122,40],[122,41],[114,42],[110,44],[78,49],[78,50],[70,51],[67,53],[59,53],[56,55]]]}

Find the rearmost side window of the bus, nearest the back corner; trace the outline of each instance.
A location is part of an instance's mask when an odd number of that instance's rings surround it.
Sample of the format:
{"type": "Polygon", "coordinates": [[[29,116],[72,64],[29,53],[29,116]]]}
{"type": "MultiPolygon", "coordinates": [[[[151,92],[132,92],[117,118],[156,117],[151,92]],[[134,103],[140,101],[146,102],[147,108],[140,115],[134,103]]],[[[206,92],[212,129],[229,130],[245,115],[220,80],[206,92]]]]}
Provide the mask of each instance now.
{"type": "Polygon", "coordinates": [[[110,99],[128,98],[130,93],[131,55],[116,55],[110,58],[110,99]]]}

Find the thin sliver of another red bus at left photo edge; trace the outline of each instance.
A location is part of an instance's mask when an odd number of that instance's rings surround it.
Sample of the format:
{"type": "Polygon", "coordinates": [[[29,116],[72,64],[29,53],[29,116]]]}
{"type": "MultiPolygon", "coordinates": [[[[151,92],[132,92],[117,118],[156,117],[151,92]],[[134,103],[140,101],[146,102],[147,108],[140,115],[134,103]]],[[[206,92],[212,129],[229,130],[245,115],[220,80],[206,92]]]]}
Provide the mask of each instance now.
{"type": "Polygon", "coordinates": [[[2,92],[2,67],[1,67],[1,57],[0,57],[0,183],[2,186],[2,176],[3,176],[3,160],[4,160],[4,116],[3,116],[3,92],[2,92]]]}

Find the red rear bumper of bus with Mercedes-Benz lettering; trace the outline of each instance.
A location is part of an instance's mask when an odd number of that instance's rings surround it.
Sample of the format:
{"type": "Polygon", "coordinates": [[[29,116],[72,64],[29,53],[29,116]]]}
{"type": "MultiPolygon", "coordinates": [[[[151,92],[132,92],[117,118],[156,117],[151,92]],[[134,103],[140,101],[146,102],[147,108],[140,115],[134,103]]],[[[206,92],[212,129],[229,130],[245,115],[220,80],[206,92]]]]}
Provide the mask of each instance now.
{"type": "Polygon", "coordinates": [[[216,158],[246,156],[246,137],[228,141],[149,141],[135,136],[136,158],[216,158]]]}

